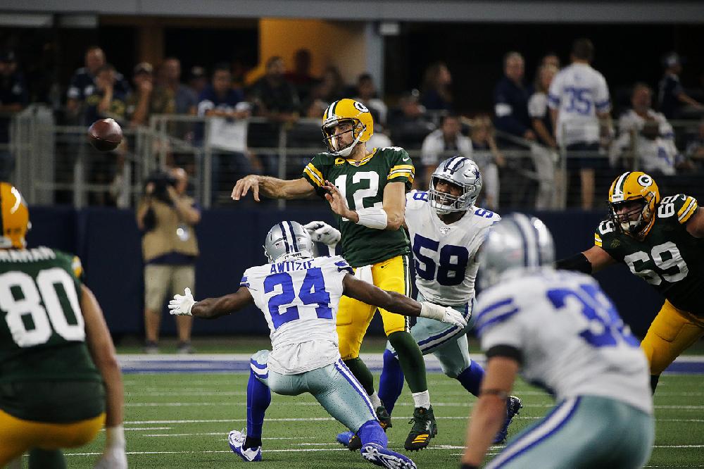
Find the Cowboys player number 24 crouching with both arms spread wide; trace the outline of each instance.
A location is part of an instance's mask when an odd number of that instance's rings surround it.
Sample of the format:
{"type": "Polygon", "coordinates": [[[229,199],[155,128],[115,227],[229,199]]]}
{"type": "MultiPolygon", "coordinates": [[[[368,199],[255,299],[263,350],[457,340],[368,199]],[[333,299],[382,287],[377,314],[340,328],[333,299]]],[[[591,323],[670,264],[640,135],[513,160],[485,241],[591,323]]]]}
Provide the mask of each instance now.
{"type": "Polygon", "coordinates": [[[313,257],[305,228],[284,221],[272,227],[264,244],[270,263],[245,271],[240,289],[220,298],[194,301],[189,289],[175,295],[171,313],[218,318],[254,303],[264,313],[272,351],[251,358],[247,385],[247,432],[230,432],[232,451],[244,461],[261,460],[264,413],[270,390],[297,395],[310,392],[330,415],[356,432],[365,460],[389,469],[411,469],[415,463],[386,448],[388,440],[363,387],[340,358],[335,319],[345,294],[394,313],[448,321],[464,327],[452,308],[422,304],[396,292],[357,280],[340,256],[313,257]]]}

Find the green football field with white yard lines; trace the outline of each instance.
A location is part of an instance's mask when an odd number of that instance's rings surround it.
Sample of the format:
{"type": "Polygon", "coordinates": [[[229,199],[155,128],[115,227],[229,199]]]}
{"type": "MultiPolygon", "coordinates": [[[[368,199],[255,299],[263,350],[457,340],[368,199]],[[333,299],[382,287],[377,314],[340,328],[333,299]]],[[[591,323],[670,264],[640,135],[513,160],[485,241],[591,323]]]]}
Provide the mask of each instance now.
{"type": "MultiPolygon", "coordinates": [[[[244,465],[227,445],[227,432],[246,427],[246,373],[127,374],[125,434],[132,468],[230,468],[244,465]]],[[[439,434],[431,446],[410,454],[419,468],[457,468],[474,397],[458,382],[430,374],[429,389],[439,434]]],[[[378,374],[375,382],[378,382],[378,374]]],[[[704,467],[704,377],[665,375],[655,395],[657,430],[647,467],[704,467]]],[[[522,382],[515,394],[524,408],[510,436],[552,406],[549,396],[522,382]]],[[[408,388],[394,409],[389,445],[403,451],[413,413],[408,388]]],[[[369,468],[358,453],[334,442],[343,427],[309,395],[272,395],[257,468],[369,468]]],[[[91,468],[104,434],[65,452],[69,468],[91,468]]],[[[491,454],[500,451],[491,448],[491,454]]]]}

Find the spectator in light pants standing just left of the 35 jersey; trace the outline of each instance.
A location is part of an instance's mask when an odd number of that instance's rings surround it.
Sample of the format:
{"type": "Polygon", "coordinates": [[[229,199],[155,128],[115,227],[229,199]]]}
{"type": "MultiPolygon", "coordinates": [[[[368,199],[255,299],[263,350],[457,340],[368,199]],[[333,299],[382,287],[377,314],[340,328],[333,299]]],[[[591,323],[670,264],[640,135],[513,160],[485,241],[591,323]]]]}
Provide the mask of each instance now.
{"type": "Polygon", "coordinates": [[[558,73],[554,65],[541,65],[535,75],[535,92],[528,100],[528,114],[540,145],[531,145],[531,157],[538,175],[538,194],[535,208],[553,208],[555,201],[555,163],[558,161],[558,144],[553,137],[553,122],[548,112],[548,89],[558,73]]]}

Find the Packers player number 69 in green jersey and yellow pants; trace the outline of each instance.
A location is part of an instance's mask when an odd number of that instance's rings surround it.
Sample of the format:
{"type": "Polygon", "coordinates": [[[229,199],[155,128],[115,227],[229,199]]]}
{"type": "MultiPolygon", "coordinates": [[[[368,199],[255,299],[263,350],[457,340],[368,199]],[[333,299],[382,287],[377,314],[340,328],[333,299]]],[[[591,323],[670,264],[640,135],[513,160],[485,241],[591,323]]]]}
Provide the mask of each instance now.
{"type": "Polygon", "coordinates": [[[616,178],[609,207],[610,217],[599,224],[594,246],[556,265],[593,273],[624,263],[665,296],[641,342],[655,392],[665,368],[704,336],[704,209],[684,194],[661,200],[653,177],[639,171],[616,178]]]}

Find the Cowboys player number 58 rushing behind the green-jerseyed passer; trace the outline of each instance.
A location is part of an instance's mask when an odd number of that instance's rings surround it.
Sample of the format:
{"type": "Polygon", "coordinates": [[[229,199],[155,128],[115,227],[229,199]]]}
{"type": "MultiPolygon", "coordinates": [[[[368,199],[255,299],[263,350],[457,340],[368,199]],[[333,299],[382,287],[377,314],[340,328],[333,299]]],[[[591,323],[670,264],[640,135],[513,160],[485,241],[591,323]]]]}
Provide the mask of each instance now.
{"type": "MultiPolygon", "coordinates": [[[[418,301],[451,306],[467,320],[474,305],[477,250],[489,227],[501,220],[496,213],[474,206],[481,189],[482,175],[474,161],[454,156],[440,163],[432,173],[427,192],[413,191],[406,196],[406,227],[415,258],[418,301]]],[[[339,240],[337,230],[325,223],[309,223],[306,228],[313,233],[313,239],[327,243],[339,240]]],[[[419,318],[410,332],[423,354],[434,354],[446,375],[478,396],[484,370],[470,360],[467,331],[471,327],[472,321],[466,327],[455,327],[419,318]]],[[[396,352],[387,344],[379,398],[389,414],[402,389],[403,372],[396,352]]],[[[495,443],[505,440],[508,425],[520,408],[520,399],[509,396],[507,418],[496,433],[495,443]]],[[[424,411],[432,413],[432,407],[416,408],[414,414],[424,411]]],[[[422,432],[419,428],[412,432],[415,437],[409,437],[406,449],[417,449],[418,444],[425,442],[424,438],[436,433],[434,428],[427,430],[422,432]]],[[[339,434],[338,441],[350,449],[358,449],[360,444],[349,432],[339,434]]]]}

